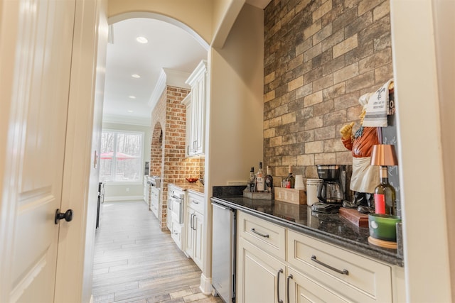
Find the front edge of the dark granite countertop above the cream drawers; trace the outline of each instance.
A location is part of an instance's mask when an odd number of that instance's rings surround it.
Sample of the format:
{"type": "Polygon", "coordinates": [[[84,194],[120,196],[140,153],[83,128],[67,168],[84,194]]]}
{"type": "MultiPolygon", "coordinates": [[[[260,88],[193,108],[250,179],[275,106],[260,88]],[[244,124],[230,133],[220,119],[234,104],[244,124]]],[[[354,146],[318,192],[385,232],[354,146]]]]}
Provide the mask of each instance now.
{"type": "Polygon", "coordinates": [[[397,265],[400,267],[404,267],[404,260],[398,258],[397,255],[389,253],[385,250],[381,250],[380,248],[375,248],[373,246],[365,246],[362,243],[351,241],[346,238],[340,238],[331,233],[326,233],[323,231],[316,231],[312,228],[302,226],[299,224],[294,224],[285,219],[277,218],[276,216],[272,216],[269,214],[264,214],[262,212],[255,211],[248,207],[241,206],[239,204],[234,204],[234,203],[228,202],[226,200],[223,200],[223,199],[220,199],[217,197],[212,197],[210,199],[213,202],[217,202],[219,204],[223,204],[224,206],[228,206],[233,209],[240,210],[240,211],[245,211],[245,213],[247,213],[247,214],[252,214],[253,216],[257,216],[257,217],[265,219],[267,221],[271,221],[280,226],[291,228],[294,231],[299,231],[308,236],[313,236],[314,238],[317,238],[322,241],[326,241],[331,244],[335,244],[336,246],[340,246],[341,248],[348,248],[349,250],[352,250],[355,253],[360,253],[362,255],[365,255],[368,258],[373,258],[373,259],[383,261],[385,263],[389,263],[391,265],[397,265]]]}

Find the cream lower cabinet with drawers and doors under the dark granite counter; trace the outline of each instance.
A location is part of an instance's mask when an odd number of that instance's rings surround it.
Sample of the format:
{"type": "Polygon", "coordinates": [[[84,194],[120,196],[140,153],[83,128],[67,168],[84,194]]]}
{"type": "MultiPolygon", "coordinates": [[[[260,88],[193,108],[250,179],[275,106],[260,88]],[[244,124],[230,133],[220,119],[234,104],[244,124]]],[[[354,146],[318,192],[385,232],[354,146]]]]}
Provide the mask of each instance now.
{"type": "Polygon", "coordinates": [[[237,211],[237,303],[405,301],[402,268],[285,229],[237,211]]]}

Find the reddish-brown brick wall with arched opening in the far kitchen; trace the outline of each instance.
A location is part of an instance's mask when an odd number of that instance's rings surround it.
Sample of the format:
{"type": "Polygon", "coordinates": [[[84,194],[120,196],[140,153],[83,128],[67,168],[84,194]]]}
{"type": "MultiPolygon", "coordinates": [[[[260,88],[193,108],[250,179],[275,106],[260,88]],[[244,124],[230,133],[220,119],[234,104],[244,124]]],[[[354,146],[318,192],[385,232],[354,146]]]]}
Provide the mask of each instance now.
{"type": "Polygon", "coordinates": [[[161,176],[159,221],[162,231],[166,230],[168,183],[185,182],[185,177],[198,177],[204,171],[204,158],[185,158],[186,106],[181,102],[189,92],[180,87],[166,87],[151,113],[154,131],[150,172],[161,176]]]}

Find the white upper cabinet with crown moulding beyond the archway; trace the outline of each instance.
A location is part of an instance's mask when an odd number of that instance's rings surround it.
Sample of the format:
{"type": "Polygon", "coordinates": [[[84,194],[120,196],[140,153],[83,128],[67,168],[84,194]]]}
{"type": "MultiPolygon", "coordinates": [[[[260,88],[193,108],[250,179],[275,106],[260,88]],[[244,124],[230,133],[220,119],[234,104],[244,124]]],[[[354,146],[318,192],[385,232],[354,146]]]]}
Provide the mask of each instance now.
{"type": "Polygon", "coordinates": [[[186,156],[204,153],[206,82],[207,61],[202,60],[186,80],[191,86],[191,93],[183,100],[186,105],[186,156]]]}

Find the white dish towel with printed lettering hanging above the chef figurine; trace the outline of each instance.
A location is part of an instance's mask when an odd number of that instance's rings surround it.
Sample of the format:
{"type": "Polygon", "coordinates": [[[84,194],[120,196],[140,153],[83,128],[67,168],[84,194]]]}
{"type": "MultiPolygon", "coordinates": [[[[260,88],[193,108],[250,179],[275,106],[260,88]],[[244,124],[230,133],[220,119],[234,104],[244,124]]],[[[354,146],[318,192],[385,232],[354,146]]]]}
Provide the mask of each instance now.
{"type": "MultiPolygon", "coordinates": [[[[368,96],[368,103],[365,104],[365,118],[363,126],[386,127],[387,114],[392,114],[389,106],[389,85],[393,79],[387,81],[380,89],[368,96]]],[[[363,98],[363,95],[361,98],[363,98]]]]}

